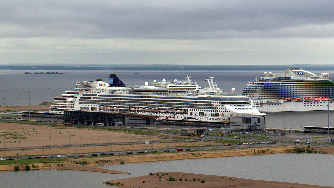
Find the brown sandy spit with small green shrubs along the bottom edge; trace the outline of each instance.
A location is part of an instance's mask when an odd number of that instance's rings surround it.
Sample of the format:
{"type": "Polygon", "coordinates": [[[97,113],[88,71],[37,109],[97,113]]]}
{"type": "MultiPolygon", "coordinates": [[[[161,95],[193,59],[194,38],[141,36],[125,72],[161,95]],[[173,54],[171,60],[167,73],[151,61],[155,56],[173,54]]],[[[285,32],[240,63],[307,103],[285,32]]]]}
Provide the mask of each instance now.
{"type": "MultiPolygon", "coordinates": [[[[226,177],[226,176],[213,176],[213,175],[204,175],[204,174],[191,174],[191,173],[182,173],[182,172],[157,172],[152,176],[139,176],[132,178],[125,178],[119,180],[109,181],[113,182],[114,186],[117,187],[159,187],[159,188],[167,188],[167,187],[182,187],[182,188],[221,188],[221,187],[247,187],[247,188],[272,188],[272,187],[281,187],[281,188],[318,188],[318,187],[326,187],[326,186],[316,186],[316,185],[306,185],[306,184],[298,184],[298,183],[287,183],[287,182],[275,182],[275,181],[260,181],[260,180],[250,180],[243,178],[234,178],[234,177],[226,177]],[[167,174],[164,175],[163,174],[167,174]],[[157,176],[157,174],[159,174],[157,176]],[[161,178],[159,178],[161,176],[161,178]],[[166,181],[166,178],[174,177],[177,181],[166,181]],[[179,181],[180,178],[182,181],[179,181]],[[185,181],[187,179],[188,181],[185,181]],[[196,181],[193,181],[195,179],[196,181]],[[160,181],[159,181],[160,180],[160,181]],[[189,181],[191,180],[191,181],[189,181]],[[204,182],[202,183],[201,181],[204,182]],[[143,182],[145,181],[145,182],[143,182]],[[119,182],[123,185],[115,185],[115,183],[119,182]]],[[[106,182],[104,182],[106,183],[106,182]]]]}

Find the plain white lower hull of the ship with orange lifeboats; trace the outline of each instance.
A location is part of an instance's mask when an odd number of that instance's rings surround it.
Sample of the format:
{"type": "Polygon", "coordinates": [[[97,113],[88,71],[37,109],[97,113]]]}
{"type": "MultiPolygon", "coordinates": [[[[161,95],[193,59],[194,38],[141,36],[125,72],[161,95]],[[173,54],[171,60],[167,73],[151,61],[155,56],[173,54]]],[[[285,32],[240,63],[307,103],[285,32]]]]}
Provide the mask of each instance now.
{"type": "Polygon", "coordinates": [[[251,105],[263,113],[334,110],[334,101],[305,101],[286,103],[284,103],[283,100],[251,101],[251,105]]]}

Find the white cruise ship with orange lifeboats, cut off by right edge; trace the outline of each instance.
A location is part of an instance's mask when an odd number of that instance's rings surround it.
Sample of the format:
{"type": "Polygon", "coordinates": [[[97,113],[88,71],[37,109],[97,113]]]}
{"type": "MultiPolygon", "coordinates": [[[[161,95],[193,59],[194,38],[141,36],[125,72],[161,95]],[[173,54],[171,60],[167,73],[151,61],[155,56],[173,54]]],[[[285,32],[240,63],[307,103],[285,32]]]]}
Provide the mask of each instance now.
{"type": "Polygon", "coordinates": [[[333,110],[333,91],[329,73],[291,67],[281,74],[264,72],[260,79],[248,81],[242,94],[260,112],[294,112],[333,110]]]}

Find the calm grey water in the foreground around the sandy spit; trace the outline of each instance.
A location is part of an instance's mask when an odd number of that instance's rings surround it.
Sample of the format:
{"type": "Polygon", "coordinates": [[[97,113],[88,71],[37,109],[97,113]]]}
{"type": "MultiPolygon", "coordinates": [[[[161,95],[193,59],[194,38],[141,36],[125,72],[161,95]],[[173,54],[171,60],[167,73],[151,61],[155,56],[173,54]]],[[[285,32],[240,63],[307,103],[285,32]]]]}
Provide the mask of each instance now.
{"type": "MultiPolygon", "coordinates": [[[[333,186],[334,155],[268,154],[102,166],[131,175],[72,170],[0,172],[1,187],[106,187],[104,181],[148,175],[150,172],[185,172],[246,179],[333,186]]],[[[194,177],[196,178],[196,177],[194,177]]]]}

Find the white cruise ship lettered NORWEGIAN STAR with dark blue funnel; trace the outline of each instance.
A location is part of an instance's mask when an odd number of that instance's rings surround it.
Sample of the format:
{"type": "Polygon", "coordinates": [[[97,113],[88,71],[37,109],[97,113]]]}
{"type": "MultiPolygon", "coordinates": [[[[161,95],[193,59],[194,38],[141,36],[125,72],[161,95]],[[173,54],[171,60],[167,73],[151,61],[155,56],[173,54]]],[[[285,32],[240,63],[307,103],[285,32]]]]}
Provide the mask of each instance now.
{"type": "MultiPolygon", "coordinates": [[[[252,130],[265,127],[266,114],[252,107],[246,96],[221,91],[212,77],[207,79],[209,87],[199,89],[195,84],[191,91],[184,92],[172,92],[175,90],[148,85],[148,82],[142,86],[126,87],[118,84],[121,80],[116,78],[115,74],[111,74],[109,84],[102,80],[76,83],[74,90],[77,93],[69,95],[70,99],[65,98],[70,105],[61,110],[150,115],[183,125],[200,122],[216,127],[232,125],[252,130]]],[[[174,83],[177,81],[174,80],[174,83]]],[[[185,88],[187,85],[184,84],[185,88]]],[[[54,111],[60,110],[60,105],[56,106],[58,99],[62,98],[55,98],[55,105],[52,105],[54,111]]]]}

